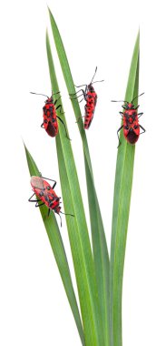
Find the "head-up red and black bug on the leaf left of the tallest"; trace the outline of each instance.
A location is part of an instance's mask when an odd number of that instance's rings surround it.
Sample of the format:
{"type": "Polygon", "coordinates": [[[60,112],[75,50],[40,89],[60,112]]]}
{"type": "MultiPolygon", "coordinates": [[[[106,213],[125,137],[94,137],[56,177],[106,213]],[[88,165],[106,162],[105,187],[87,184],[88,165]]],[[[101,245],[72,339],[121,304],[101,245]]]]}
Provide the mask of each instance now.
{"type": "MultiPolygon", "coordinates": [[[[60,92],[57,92],[55,94],[59,94],[60,92]]],[[[44,94],[36,94],[36,93],[32,93],[31,94],[35,94],[35,95],[42,95],[44,97],[47,97],[47,95],[44,95],[44,94]]],[[[62,110],[62,105],[59,105],[58,107],[55,107],[56,106],[56,103],[57,101],[59,100],[59,98],[61,97],[58,97],[55,101],[54,101],[54,98],[53,96],[55,95],[53,94],[51,97],[47,97],[46,101],[45,101],[45,105],[43,107],[43,110],[44,110],[44,122],[42,123],[41,127],[45,129],[45,131],[47,132],[47,134],[51,137],[55,137],[57,134],[58,134],[58,121],[57,119],[59,119],[62,124],[63,124],[63,127],[65,129],[65,134],[66,134],[66,137],[68,139],[70,139],[68,137],[68,134],[67,134],[67,129],[65,127],[65,124],[63,123],[63,120],[61,117],[58,117],[57,116],[57,109],[59,108],[60,110],[60,113],[63,114],[61,112],[62,110]]]]}

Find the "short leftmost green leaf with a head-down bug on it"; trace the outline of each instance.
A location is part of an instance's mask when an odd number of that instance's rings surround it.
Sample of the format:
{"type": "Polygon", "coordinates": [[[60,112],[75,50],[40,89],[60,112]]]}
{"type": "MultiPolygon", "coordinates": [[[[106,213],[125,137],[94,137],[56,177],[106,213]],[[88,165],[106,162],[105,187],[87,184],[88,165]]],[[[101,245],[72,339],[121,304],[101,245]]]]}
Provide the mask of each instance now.
{"type": "MultiPolygon", "coordinates": [[[[34,162],[34,159],[32,158],[27,148],[26,147],[24,148],[25,148],[25,154],[26,154],[30,176],[39,176],[40,172],[34,162]]],[[[82,326],[82,321],[81,321],[80,313],[78,310],[75,294],[73,291],[73,283],[71,279],[71,274],[70,274],[65,250],[63,248],[63,239],[61,237],[60,230],[58,228],[56,219],[54,217],[54,212],[52,211],[50,213],[49,218],[45,218],[45,215],[47,215],[48,213],[47,207],[42,206],[40,208],[40,211],[42,214],[42,218],[44,220],[44,226],[45,226],[48,238],[50,240],[51,247],[54,252],[54,258],[56,260],[58,270],[63,280],[64,290],[66,292],[67,298],[69,300],[69,304],[73,311],[73,317],[74,317],[78,332],[80,334],[80,338],[84,346],[85,343],[84,343],[84,335],[83,335],[83,326],[82,326]]]]}

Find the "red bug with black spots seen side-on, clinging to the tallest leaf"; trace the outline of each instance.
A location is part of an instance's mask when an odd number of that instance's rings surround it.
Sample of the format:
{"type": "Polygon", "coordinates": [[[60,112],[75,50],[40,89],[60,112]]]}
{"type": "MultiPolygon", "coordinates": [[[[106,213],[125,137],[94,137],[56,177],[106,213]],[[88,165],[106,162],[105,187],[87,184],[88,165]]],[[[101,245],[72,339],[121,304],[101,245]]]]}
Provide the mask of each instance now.
{"type": "MultiPolygon", "coordinates": [[[[97,67],[95,68],[93,78],[96,74],[96,71],[97,71],[97,67]]],[[[96,107],[96,103],[97,103],[97,94],[93,88],[93,84],[99,83],[99,82],[103,82],[103,80],[98,80],[96,82],[93,82],[93,79],[92,79],[92,81],[89,85],[86,85],[86,84],[82,85],[82,86],[85,86],[84,90],[80,89],[76,93],[70,94],[70,96],[72,96],[72,99],[83,96],[83,99],[86,101],[86,104],[84,106],[85,115],[83,116],[85,129],[88,129],[90,127],[92,121],[93,121],[93,115],[94,115],[94,111],[95,111],[95,107],[96,107]],[[82,91],[83,94],[79,95],[78,97],[74,97],[80,91],[82,91]]],[[[76,86],[76,87],[81,87],[81,86],[76,86]]],[[[83,99],[80,102],[82,102],[83,99]]]]}

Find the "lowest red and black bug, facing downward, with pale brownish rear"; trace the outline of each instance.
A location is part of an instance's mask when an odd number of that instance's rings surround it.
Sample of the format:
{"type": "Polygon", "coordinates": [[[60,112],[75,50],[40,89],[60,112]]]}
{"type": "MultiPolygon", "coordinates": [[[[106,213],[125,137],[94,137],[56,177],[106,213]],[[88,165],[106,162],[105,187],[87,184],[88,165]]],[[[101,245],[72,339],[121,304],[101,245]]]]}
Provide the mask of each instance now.
{"type": "MultiPolygon", "coordinates": [[[[74,216],[72,214],[65,214],[61,211],[60,207],[60,198],[58,197],[55,192],[54,192],[54,187],[56,185],[56,181],[53,179],[49,178],[44,178],[44,177],[31,177],[31,186],[34,190],[34,194],[28,199],[29,202],[35,202],[35,207],[41,207],[41,206],[46,206],[48,207],[48,217],[50,215],[50,210],[54,210],[56,214],[60,216],[61,219],[61,214],[64,215],[70,215],[74,216]],[[44,179],[54,181],[53,187],[44,179]],[[36,195],[37,198],[39,199],[32,199],[36,195]],[[42,203],[39,203],[42,202],[42,203]]],[[[62,226],[62,219],[61,219],[61,226],[62,226]]]]}

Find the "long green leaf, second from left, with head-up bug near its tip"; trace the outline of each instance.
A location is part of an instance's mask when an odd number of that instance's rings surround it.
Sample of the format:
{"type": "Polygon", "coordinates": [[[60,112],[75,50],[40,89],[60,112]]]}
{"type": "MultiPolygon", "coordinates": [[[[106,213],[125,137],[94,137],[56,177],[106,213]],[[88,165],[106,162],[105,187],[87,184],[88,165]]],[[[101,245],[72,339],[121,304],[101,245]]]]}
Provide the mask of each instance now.
{"type": "MultiPolygon", "coordinates": [[[[55,76],[53,56],[48,36],[46,36],[46,48],[52,89],[56,92],[59,90],[59,86],[55,76]]],[[[58,115],[60,114],[58,113],[58,115]]],[[[65,122],[64,115],[63,121],[65,122]]],[[[100,313],[97,304],[98,298],[94,276],[93,254],[71,142],[64,137],[63,128],[61,126],[59,127],[59,136],[56,137],[56,148],[64,209],[66,212],[74,214],[74,218],[67,217],[66,221],[82,310],[85,343],[86,346],[100,346],[103,344],[103,331],[99,328],[100,313]]]]}

